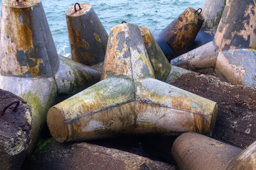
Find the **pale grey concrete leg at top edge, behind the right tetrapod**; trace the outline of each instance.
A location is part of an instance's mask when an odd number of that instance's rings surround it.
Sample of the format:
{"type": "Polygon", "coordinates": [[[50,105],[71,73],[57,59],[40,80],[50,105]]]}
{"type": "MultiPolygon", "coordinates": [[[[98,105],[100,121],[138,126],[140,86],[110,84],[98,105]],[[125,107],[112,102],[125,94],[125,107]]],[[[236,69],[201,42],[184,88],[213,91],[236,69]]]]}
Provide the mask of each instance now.
{"type": "Polygon", "coordinates": [[[220,18],[225,8],[225,0],[206,0],[203,4],[202,15],[205,18],[201,30],[216,32],[220,18]]]}

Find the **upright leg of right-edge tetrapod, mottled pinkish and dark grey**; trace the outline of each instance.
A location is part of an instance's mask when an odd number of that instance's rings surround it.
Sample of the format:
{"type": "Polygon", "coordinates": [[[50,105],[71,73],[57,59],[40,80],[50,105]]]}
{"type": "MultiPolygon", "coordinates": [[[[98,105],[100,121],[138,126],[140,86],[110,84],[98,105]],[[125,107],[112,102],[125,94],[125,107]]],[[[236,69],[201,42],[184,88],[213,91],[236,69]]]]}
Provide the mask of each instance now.
{"type": "Polygon", "coordinates": [[[219,51],[256,47],[255,1],[227,1],[213,40],[219,51]]]}

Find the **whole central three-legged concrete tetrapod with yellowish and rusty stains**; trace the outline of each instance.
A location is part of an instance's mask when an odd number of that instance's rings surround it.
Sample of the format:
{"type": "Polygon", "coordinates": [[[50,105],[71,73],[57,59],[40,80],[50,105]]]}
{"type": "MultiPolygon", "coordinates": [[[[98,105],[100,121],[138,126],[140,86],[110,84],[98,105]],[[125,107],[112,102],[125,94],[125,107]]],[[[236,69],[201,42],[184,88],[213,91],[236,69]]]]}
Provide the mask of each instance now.
{"type": "Polygon", "coordinates": [[[58,142],[123,134],[211,135],[217,104],[154,79],[139,28],[110,30],[102,81],[50,108],[47,124],[58,142]]]}

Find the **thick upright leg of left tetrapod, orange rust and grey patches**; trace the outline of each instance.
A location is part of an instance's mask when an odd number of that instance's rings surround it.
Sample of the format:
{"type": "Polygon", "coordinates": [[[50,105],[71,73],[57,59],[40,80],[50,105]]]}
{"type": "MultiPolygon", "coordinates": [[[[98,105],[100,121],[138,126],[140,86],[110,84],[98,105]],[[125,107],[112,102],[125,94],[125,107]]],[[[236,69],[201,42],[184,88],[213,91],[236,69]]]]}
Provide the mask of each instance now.
{"type": "Polygon", "coordinates": [[[53,77],[57,72],[58,54],[40,0],[2,1],[0,45],[1,75],[53,77]]]}

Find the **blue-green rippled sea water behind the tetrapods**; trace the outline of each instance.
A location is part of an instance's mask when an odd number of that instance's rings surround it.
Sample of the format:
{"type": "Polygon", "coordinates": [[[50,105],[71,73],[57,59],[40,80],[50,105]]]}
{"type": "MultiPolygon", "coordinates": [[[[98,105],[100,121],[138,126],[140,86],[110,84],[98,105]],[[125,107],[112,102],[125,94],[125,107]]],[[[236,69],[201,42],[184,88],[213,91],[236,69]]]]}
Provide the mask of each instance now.
{"type": "MultiPolygon", "coordinates": [[[[1,0],[0,0],[1,1],[1,0]]],[[[14,0],[9,0],[14,1],[14,0]]],[[[89,3],[97,13],[102,25],[110,28],[127,21],[150,30],[161,30],[186,8],[201,8],[205,0],[42,0],[46,17],[59,55],[70,55],[65,11],[76,2],[89,3]]]]}

